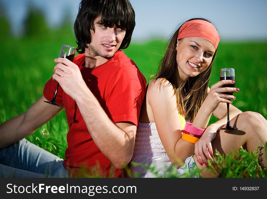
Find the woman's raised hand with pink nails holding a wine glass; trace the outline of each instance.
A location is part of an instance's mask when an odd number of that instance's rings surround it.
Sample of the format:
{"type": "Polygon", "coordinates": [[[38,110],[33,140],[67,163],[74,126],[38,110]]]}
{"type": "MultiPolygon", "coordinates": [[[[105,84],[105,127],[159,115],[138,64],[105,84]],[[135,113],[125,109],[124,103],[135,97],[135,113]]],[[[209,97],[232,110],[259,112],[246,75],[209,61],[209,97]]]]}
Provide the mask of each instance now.
{"type": "Polygon", "coordinates": [[[232,101],[230,100],[231,99],[235,100],[236,99],[235,96],[227,95],[225,93],[226,92],[229,92],[229,93],[237,92],[239,91],[239,89],[231,88],[231,87],[221,88],[221,86],[225,84],[234,84],[234,83],[235,81],[232,81],[232,80],[221,80],[221,81],[218,81],[216,84],[212,85],[202,105],[205,104],[206,108],[209,109],[209,112],[212,113],[218,107],[220,102],[231,104],[232,101]]]}

